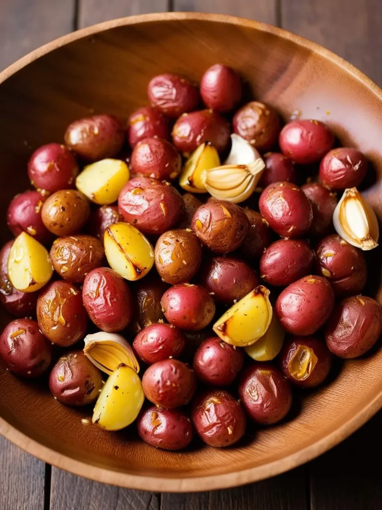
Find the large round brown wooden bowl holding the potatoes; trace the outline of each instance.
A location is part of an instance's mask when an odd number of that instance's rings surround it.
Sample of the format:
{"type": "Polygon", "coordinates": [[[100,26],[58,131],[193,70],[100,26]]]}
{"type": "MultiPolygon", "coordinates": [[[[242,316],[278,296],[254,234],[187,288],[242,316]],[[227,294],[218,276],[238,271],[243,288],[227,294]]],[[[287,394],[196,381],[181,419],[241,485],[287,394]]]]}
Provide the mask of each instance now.
{"type": "MultiPolygon", "coordinates": [[[[215,62],[237,69],[255,98],[287,120],[293,112],[328,123],[343,145],[366,153],[375,179],[366,194],[382,219],[382,91],[350,64],[301,37],[229,16],[168,13],[110,21],[62,37],[0,74],[1,215],[29,186],[26,162],[37,146],[63,140],[65,126],[90,113],[127,117],[147,104],[158,73],[199,81],[215,62]],[[298,112],[297,112],[298,111],[298,112]]],[[[4,227],[1,241],[9,238],[4,227]]],[[[368,267],[379,286],[380,253],[368,267]],[[374,263],[373,263],[374,261],[374,263]]],[[[4,326],[9,317],[1,315],[4,326]]],[[[46,387],[0,373],[0,430],[42,460],[94,480],[150,491],[232,487],[302,464],[368,420],[382,403],[382,349],[339,364],[337,377],[307,392],[289,421],[249,425],[245,441],[227,450],[182,453],[154,449],[130,427],[107,433],[84,425],[89,411],[54,401],[46,387]]]]}

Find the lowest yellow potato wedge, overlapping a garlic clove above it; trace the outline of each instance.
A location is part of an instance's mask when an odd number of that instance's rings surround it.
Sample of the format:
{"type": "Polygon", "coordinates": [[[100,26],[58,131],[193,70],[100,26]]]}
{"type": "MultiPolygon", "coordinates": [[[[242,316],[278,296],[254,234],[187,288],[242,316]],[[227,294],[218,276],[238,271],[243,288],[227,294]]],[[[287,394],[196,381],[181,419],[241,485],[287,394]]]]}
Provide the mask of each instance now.
{"type": "Polygon", "coordinates": [[[94,407],[93,423],[105,430],[120,430],[137,418],[145,400],[137,372],[119,365],[106,380],[94,407]]]}

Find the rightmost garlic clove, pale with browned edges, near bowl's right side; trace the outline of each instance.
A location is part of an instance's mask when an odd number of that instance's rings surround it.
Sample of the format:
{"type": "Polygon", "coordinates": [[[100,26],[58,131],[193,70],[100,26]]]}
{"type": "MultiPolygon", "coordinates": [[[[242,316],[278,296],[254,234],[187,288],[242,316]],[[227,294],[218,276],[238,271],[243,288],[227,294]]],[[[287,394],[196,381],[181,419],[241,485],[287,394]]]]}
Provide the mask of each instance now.
{"type": "Polygon", "coordinates": [[[344,191],[334,211],[333,223],[337,234],[349,244],[362,250],[378,246],[377,218],[357,188],[344,191]]]}

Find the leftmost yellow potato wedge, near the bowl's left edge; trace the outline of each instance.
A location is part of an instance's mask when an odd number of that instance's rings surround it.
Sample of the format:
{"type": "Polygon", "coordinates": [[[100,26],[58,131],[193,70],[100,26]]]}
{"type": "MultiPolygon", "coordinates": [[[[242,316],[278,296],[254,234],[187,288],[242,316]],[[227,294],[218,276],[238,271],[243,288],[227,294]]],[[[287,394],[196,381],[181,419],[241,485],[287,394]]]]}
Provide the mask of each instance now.
{"type": "Polygon", "coordinates": [[[34,292],[49,282],[53,266],[42,244],[22,232],[12,245],[8,257],[8,276],[13,287],[34,292]]]}

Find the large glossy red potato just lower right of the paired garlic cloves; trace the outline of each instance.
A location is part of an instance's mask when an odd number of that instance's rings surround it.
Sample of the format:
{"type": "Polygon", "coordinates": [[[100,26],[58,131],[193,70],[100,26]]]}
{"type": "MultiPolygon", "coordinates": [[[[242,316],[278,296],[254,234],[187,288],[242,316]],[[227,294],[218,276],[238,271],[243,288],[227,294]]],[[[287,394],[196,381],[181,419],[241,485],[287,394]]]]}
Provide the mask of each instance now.
{"type": "Polygon", "coordinates": [[[269,226],[280,237],[304,236],[313,221],[313,210],[309,199],[292,183],[270,184],[261,193],[260,213],[269,226]]]}

